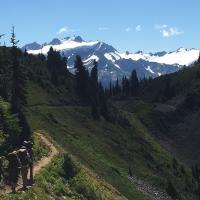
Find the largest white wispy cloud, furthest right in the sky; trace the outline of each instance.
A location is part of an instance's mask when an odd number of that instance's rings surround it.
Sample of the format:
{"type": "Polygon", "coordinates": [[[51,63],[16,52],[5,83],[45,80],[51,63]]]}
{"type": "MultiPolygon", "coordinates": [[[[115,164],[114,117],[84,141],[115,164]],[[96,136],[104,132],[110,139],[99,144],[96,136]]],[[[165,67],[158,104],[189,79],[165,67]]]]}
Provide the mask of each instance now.
{"type": "Polygon", "coordinates": [[[162,34],[162,36],[165,38],[169,38],[169,37],[176,36],[176,35],[181,35],[184,33],[183,31],[178,30],[178,28],[169,27],[166,24],[163,24],[163,25],[156,24],[156,25],[154,25],[154,28],[157,29],[162,34]]]}

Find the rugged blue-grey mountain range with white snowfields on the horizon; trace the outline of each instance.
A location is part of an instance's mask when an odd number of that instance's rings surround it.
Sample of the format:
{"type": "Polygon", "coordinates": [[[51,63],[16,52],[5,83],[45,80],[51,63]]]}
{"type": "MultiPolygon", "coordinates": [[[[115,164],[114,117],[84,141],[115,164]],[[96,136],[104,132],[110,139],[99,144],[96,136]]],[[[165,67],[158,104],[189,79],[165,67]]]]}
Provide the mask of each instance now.
{"type": "Polygon", "coordinates": [[[47,54],[50,47],[60,51],[68,58],[68,69],[74,72],[74,60],[80,55],[85,66],[90,70],[93,60],[98,61],[99,80],[107,86],[110,80],[115,81],[123,76],[129,77],[136,69],[138,77],[157,77],[172,73],[189,66],[199,57],[199,50],[180,48],[173,52],[120,53],[114,47],[100,41],[84,41],[80,36],[64,39],[54,38],[50,43],[30,43],[22,47],[30,54],[47,54]]]}

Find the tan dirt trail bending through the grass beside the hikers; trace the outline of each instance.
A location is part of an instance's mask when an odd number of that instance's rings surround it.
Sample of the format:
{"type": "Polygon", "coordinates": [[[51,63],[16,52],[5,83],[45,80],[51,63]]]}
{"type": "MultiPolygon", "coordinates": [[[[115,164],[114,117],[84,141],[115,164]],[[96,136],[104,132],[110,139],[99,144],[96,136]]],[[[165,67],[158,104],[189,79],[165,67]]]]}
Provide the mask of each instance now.
{"type": "MultiPolygon", "coordinates": [[[[37,134],[41,140],[45,143],[45,145],[47,145],[50,149],[49,155],[46,157],[41,158],[41,160],[39,160],[38,162],[36,162],[34,164],[34,176],[46,165],[48,165],[52,158],[57,155],[59,153],[59,151],[57,150],[57,148],[53,145],[53,143],[51,143],[43,134],[41,134],[40,132],[35,133],[37,134]]],[[[22,188],[22,180],[20,178],[20,180],[18,181],[18,186],[16,188],[17,191],[20,191],[22,188]]],[[[0,189],[0,196],[1,195],[5,195],[5,194],[9,194],[11,193],[11,189],[10,187],[6,186],[3,189],[0,189]]]]}

